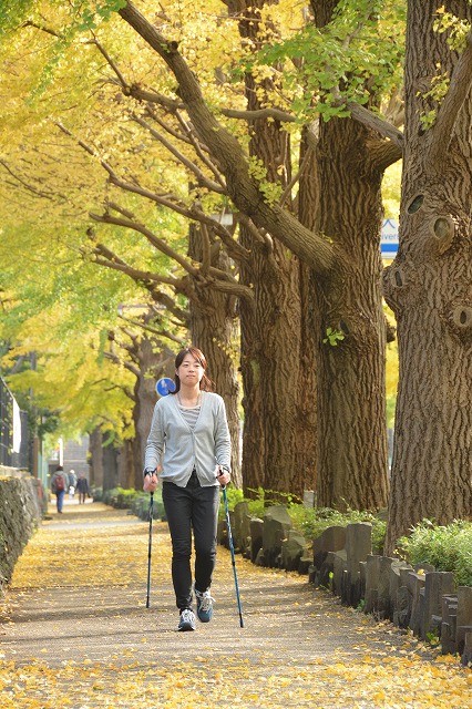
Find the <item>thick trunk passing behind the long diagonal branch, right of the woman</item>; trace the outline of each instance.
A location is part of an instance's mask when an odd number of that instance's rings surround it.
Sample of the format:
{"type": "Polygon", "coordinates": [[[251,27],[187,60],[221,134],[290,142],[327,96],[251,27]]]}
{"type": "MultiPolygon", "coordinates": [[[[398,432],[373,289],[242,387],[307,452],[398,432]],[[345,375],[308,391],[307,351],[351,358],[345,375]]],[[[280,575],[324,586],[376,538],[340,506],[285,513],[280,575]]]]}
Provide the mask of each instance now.
{"type": "MultiPolygon", "coordinates": [[[[263,39],[259,9],[264,4],[264,0],[248,1],[233,9],[240,12],[243,41],[249,39],[253,47],[263,39]]],[[[248,73],[248,110],[260,109],[261,96],[273,90],[271,81],[248,73]]],[[[268,181],[286,187],[291,176],[288,133],[277,121],[254,121],[249,133],[250,156],[261,161],[268,181]]],[[[242,227],[240,240],[253,253],[250,265],[242,265],[240,278],[254,286],[255,295],[254,304],[240,308],[245,489],[263,486],[302,497],[304,490],[315,483],[315,432],[312,417],[304,415],[307,395],[314,392],[308,374],[312,360],[304,349],[301,329],[300,264],[277,239],[255,242],[242,227]],[[300,371],[307,374],[305,380],[300,371]]]]}

